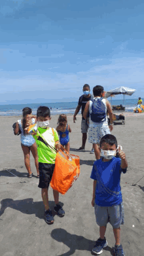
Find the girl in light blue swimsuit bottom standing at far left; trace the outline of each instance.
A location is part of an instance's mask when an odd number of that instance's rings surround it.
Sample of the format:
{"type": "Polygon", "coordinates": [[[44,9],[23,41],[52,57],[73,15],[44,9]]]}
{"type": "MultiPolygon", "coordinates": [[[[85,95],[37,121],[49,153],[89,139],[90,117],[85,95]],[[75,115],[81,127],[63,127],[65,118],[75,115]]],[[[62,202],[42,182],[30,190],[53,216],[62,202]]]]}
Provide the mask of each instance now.
{"type": "Polygon", "coordinates": [[[19,126],[20,126],[20,130],[21,130],[20,140],[21,140],[22,151],[24,152],[24,162],[28,172],[27,177],[31,178],[33,176],[31,172],[31,167],[30,167],[30,151],[31,151],[33,158],[35,159],[37,177],[39,178],[37,144],[35,143],[35,139],[33,139],[33,136],[26,134],[24,130],[30,124],[35,124],[35,116],[31,115],[31,113],[32,113],[32,110],[30,109],[30,107],[24,107],[24,109],[22,109],[23,119],[22,120],[20,119],[18,120],[18,122],[16,122],[16,128],[14,132],[15,134],[18,134],[19,126]]]}

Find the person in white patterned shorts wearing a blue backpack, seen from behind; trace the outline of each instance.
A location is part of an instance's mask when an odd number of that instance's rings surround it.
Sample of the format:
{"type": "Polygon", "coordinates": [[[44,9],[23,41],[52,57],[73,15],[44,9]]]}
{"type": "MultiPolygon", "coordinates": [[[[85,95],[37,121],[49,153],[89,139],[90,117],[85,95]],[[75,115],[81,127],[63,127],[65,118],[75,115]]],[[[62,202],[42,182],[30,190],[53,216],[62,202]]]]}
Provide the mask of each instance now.
{"type": "Polygon", "coordinates": [[[97,85],[93,88],[94,99],[86,103],[83,118],[86,120],[90,113],[90,124],[88,128],[88,141],[93,144],[96,159],[100,159],[99,141],[105,134],[111,134],[113,130],[113,111],[108,100],[103,98],[103,86],[97,85]],[[107,122],[109,114],[110,126],[107,122]],[[109,130],[110,129],[110,130],[109,130]]]}

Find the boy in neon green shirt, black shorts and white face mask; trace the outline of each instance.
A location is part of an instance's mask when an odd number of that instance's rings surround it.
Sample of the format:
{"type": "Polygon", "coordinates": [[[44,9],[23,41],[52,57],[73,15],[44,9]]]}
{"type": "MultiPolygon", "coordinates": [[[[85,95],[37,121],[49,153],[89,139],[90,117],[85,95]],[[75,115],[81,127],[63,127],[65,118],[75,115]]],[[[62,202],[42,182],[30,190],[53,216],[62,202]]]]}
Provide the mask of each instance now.
{"type": "MultiPolygon", "coordinates": [[[[37,153],[39,156],[39,185],[43,204],[45,206],[45,221],[48,224],[54,223],[52,211],[48,206],[48,187],[54,172],[56,151],[60,149],[58,133],[54,128],[50,128],[50,109],[48,107],[39,107],[37,109],[37,131],[33,130],[33,137],[37,143],[37,153]]],[[[65,215],[59,202],[59,192],[54,191],[54,211],[59,217],[65,215]]]]}

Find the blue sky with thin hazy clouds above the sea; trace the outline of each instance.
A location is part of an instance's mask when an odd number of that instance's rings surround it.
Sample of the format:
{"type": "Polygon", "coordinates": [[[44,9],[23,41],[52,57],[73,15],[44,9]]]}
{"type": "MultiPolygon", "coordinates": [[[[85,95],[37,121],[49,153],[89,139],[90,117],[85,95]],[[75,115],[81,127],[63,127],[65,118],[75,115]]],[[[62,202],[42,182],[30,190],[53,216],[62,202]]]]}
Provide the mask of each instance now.
{"type": "Polygon", "coordinates": [[[77,101],[84,84],[144,98],[143,10],[142,0],[1,0],[0,104],[77,101]]]}

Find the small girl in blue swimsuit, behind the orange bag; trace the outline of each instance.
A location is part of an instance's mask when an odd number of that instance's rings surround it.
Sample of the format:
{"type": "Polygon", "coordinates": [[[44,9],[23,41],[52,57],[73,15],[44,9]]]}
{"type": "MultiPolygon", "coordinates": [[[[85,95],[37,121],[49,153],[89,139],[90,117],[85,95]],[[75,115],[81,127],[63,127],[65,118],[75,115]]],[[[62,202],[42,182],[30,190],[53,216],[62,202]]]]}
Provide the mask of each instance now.
{"type": "Polygon", "coordinates": [[[69,124],[67,124],[67,116],[62,114],[58,118],[58,126],[56,128],[58,134],[60,134],[60,143],[63,147],[65,147],[66,151],[70,150],[69,143],[69,132],[71,132],[71,128],[69,124]]]}

